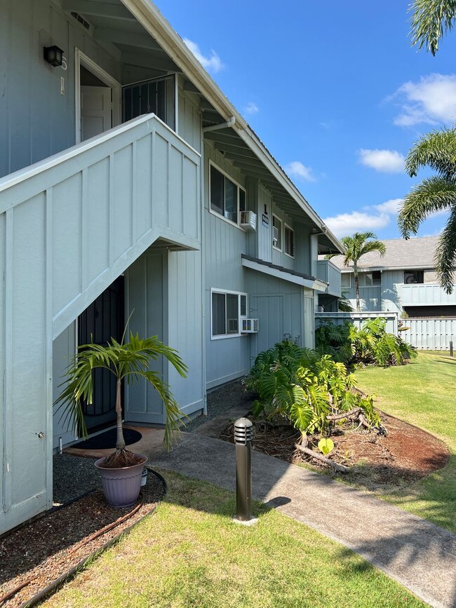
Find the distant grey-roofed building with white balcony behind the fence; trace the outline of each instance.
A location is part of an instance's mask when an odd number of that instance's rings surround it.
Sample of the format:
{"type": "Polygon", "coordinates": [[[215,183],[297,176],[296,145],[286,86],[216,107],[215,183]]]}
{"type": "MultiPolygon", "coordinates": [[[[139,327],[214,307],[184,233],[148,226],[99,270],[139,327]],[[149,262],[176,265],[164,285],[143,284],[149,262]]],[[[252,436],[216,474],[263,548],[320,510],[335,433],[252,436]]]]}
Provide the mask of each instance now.
{"type": "MultiPolygon", "coordinates": [[[[361,311],[404,311],[410,317],[456,316],[456,292],[445,293],[436,276],[438,237],[382,242],[386,248],[383,256],[373,251],[358,262],[361,311]]],[[[331,262],[342,273],[342,293],[356,309],[353,265],[344,266],[342,255],[331,262]]]]}

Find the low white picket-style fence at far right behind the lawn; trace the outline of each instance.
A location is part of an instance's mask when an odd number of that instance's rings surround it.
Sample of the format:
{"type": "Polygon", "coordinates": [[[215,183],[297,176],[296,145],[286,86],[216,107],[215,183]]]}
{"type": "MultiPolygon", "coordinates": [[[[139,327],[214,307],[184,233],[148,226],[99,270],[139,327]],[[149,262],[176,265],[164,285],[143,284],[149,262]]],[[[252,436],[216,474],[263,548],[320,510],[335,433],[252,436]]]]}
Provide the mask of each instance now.
{"type": "Polygon", "coordinates": [[[456,319],[404,319],[401,332],[405,342],[423,351],[448,351],[450,341],[456,339],[456,319]]]}

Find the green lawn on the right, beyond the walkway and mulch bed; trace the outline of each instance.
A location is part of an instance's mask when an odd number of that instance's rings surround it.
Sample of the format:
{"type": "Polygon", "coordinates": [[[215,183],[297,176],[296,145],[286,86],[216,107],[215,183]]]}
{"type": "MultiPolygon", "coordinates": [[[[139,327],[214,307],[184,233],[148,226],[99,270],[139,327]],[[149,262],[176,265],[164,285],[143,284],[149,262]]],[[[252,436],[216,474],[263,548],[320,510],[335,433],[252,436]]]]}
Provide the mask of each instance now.
{"type": "Polygon", "coordinates": [[[408,365],[368,367],[356,378],[380,410],[433,433],[451,451],[441,471],[382,498],[456,532],[456,359],[422,351],[408,365]]]}

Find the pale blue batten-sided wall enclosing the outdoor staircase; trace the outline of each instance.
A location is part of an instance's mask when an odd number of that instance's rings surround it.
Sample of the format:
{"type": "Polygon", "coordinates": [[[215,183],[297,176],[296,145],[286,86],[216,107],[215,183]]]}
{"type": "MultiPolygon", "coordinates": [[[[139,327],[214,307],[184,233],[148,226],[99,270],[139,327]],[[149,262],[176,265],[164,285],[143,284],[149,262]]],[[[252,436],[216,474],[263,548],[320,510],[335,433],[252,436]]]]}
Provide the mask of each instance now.
{"type": "MultiPolygon", "coordinates": [[[[185,205],[194,216],[200,216],[200,170],[199,154],[149,115],[0,180],[4,243],[0,254],[4,276],[0,299],[4,318],[4,333],[0,334],[4,379],[1,442],[5,462],[1,532],[43,511],[51,502],[51,385],[55,381],[53,372],[60,371],[62,365],[55,357],[74,345],[74,332],[71,335],[69,326],[155,241],[168,239],[182,248],[201,247],[199,222],[190,222],[178,231],[153,219],[166,219],[163,206],[169,206],[170,217],[182,213],[184,192],[185,205]],[[157,172],[152,182],[146,180],[149,189],[137,196],[133,180],[139,180],[139,168],[144,172],[145,166],[154,161],[138,155],[135,167],[133,144],[146,139],[146,147],[152,149],[154,133],[158,133],[163,147],[173,147],[173,163],[163,165],[163,172],[157,172]],[[177,175],[181,182],[188,180],[188,188],[180,188],[172,199],[168,173],[177,175]],[[136,233],[133,220],[138,217],[147,218],[148,223],[136,233]],[[69,333],[60,338],[65,330],[69,333]],[[44,437],[39,438],[39,433],[44,437]]],[[[144,281],[153,285],[155,275],[154,269],[152,276],[149,273],[142,279],[143,285],[144,281]]],[[[163,289],[162,283],[163,278],[159,285],[163,289]]],[[[147,305],[152,297],[166,301],[159,289],[146,294],[143,291],[142,295],[147,305]]],[[[182,292],[179,297],[181,303],[185,301],[182,292]]],[[[162,300],[157,304],[160,307],[162,300]]],[[[147,327],[154,325],[150,319],[147,322],[147,327]]],[[[186,346],[182,335],[179,342],[186,346]]],[[[201,348],[199,363],[194,353],[192,356],[201,370],[201,348]]],[[[201,401],[201,371],[195,383],[201,401]]],[[[184,391],[181,393],[185,396],[184,391]]],[[[158,421],[163,421],[161,411],[158,421]]],[[[58,426],[55,430],[62,431],[58,426]]]]}

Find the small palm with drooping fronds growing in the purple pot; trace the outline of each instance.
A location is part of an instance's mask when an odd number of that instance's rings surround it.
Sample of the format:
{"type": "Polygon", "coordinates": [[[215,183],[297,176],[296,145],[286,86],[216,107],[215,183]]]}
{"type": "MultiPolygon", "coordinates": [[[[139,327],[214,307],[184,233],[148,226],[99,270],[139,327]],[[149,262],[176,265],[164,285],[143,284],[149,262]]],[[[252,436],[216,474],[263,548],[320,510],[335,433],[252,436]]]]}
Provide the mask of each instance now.
{"type": "Polygon", "coordinates": [[[116,451],[105,459],[103,466],[117,468],[136,464],[134,454],[126,450],[122,428],[121,383],[128,384],[146,379],[159,393],[165,407],[165,436],[163,443],[166,449],[172,445],[179,433],[180,420],[183,416],[179,405],[173,398],[169,386],[161,379],[159,372],[150,370],[152,361],[160,356],[165,357],[182,377],[187,374],[187,365],[175,349],[163,344],[158,337],[140,339],[138,333],[130,332],[129,342],[116,342],[111,338],[107,344],[83,344],[72,358],[64,380],[60,386],[64,389],[55,401],[58,410],[62,409],[61,418],[81,437],[87,437],[86,421],[83,414],[83,403],[93,403],[93,370],[109,370],[116,377],[116,451]]]}

